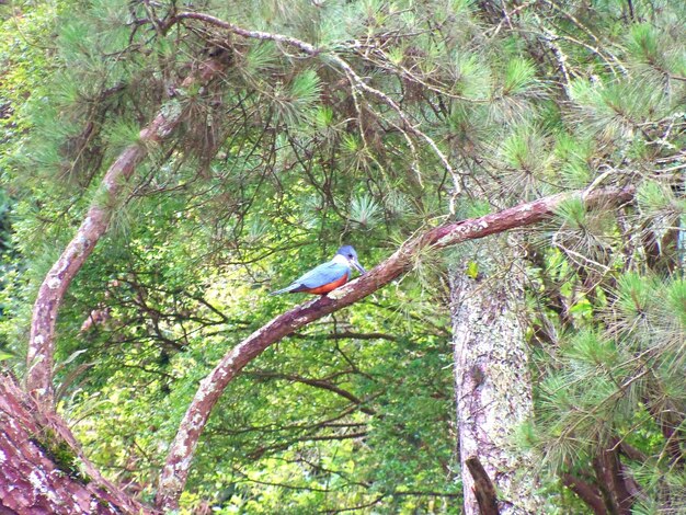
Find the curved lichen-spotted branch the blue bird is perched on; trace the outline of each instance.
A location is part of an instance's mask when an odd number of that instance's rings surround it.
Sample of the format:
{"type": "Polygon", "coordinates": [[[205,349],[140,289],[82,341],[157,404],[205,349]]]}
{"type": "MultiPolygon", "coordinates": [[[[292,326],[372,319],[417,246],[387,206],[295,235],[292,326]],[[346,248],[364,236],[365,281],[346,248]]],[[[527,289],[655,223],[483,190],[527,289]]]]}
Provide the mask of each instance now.
{"type": "Polygon", "coordinates": [[[173,510],[185,485],[191,461],[209,414],[231,380],[252,359],[270,345],[298,329],[329,313],[343,309],[371,295],[412,267],[412,258],[422,249],[443,249],[467,240],[475,240],[510,229],[530,226],[548,218],[561,203],[581,196],[587,204],[620,204],[633,196],[631,186],[574,192],[544,197],[508,209],[436,227],[420,234],[398,249],[389,259],[364,276],[290,311],[279,314],[231,348],[215,369],[201,381],[172,443],[160,477],[157,505],[173,510]]]}

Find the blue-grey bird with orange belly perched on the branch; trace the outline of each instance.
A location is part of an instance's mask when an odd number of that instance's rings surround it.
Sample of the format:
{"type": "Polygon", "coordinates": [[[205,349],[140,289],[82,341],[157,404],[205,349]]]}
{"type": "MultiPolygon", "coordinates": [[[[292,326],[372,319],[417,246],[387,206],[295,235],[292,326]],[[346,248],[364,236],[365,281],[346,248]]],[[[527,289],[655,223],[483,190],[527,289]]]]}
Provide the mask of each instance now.
{"type": "Polygon", "coordinates": [[[341,247],[333,259],[312,268],[289,286],[272,291],[270,295],[306,293],[313,295],[327,295],[339,286],[343,286],[350,279],[352,268],[361,274],[367,271],[357,261],[357,252],[351,245],[341,247]]]}

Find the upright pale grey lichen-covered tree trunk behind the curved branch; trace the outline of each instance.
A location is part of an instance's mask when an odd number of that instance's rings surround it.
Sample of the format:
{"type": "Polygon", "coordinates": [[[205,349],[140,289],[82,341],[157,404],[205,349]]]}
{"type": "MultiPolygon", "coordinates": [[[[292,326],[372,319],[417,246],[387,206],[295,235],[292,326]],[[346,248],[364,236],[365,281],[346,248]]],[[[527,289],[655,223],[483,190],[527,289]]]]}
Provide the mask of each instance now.
{"type": "MultiPolygon", "coordinates": [[[[495,250],[492,242],[481,248],[495,250]]],[[[483,265],[488,258],[477,261],[483,265]]],[[[514,271],[504,281],[471,278],[461,270],[450,272],[455,394],[467,515],[542,513],[534,493],[533,458],[514,443],[517,425],[529,419],[533,410],[528,350],[515,314],[522,298],[514,271]],[[483,481],[468,467],[475,458],[495,485],[498,512],[483,511],[483,481]]]]}

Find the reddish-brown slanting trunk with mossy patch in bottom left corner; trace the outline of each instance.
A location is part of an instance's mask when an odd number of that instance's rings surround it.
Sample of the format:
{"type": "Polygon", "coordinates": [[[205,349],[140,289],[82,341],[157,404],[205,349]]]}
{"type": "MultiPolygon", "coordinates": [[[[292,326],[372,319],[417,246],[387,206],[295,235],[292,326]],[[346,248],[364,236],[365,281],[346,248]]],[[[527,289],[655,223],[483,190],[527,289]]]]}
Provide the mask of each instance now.
{"type": "Polygon", "coordinates": [[[34,400],[0,375],[0,514],[151,513],[79,470],[34,400]]]}

